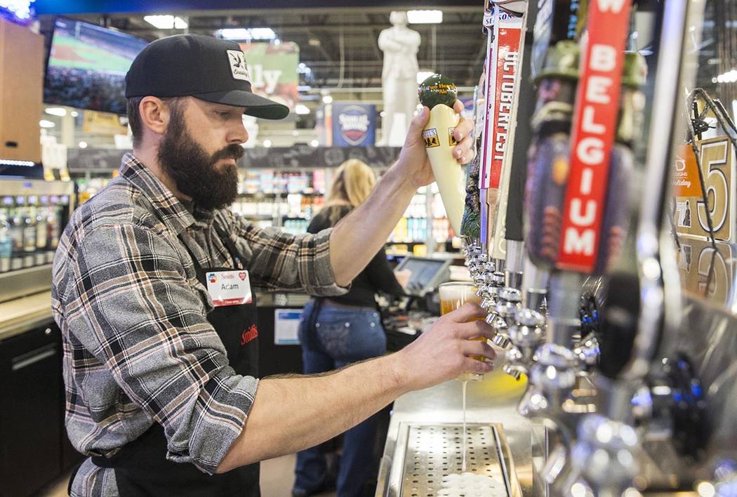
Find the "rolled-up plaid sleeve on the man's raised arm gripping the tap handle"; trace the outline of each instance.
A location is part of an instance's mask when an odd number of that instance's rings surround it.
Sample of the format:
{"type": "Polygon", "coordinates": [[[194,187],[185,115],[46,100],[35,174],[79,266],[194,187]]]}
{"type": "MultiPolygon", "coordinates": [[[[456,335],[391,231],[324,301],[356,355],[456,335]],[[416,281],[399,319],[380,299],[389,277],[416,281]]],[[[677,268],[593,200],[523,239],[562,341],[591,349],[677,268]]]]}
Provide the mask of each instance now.
{"type": "Polygon", "coordinates": [[[235,232],[251,251],[248,271],[266,290],[302,290],[315,296],[342,295],[349,287],[335,283],[330,264],[330,232],[289,234],[258,228],[232,215],[235,232]]]}

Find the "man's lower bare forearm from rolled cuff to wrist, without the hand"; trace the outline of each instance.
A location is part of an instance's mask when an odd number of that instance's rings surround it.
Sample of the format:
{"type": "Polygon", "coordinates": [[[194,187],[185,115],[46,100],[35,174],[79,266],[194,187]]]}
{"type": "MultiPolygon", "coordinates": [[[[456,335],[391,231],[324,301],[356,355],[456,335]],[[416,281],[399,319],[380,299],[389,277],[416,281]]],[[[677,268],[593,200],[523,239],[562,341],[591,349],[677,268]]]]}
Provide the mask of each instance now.
{"type": "Polygon", "coordinates": [[[408,391],[399,360],[387,355],[324,376],[261,380],[217,472],[318,445],[365,420],[408,391]]]}

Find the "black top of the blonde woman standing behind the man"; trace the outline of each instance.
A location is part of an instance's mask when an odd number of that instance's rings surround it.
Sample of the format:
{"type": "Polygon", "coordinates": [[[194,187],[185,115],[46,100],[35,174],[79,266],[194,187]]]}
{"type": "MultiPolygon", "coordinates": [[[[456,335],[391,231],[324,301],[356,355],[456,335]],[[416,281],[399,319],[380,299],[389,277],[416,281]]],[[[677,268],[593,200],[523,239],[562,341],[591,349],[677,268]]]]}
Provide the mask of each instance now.
{"type": "MultiPolygon", "coordinates": [[[[322,229],[333,226],[330,223],[329,215],[332,209],[339,209],[340,217],[343,218],[351,209],[349,206],[332,206],[322,209],[318,215],[312,218],[310,226],[307,226],[308,233],[317,233],[322,229]]],[[[377,252],[371,262],[363,268],[351,284],[351,289],[345,295],[330,297],[333,302],[339,302],[346,305],[360,305],[362,307],[376,307],[374,293],[383,291],[392,295],[404,295],[402,286],[394,277],[394,272],[386,260],[386,252],[381,249],[377,252]]]]}

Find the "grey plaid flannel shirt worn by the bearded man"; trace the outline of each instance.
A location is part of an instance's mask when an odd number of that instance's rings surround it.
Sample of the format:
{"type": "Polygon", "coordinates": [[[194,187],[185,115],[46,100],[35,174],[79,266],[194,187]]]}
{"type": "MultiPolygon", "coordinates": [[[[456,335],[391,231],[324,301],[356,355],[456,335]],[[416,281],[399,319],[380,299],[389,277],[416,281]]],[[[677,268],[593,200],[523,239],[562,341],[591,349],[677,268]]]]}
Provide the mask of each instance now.
{"type": "MultiPolygon", "coordinates": [[[[329,230],[291,235],[227,209],[190,213],[126,154],[119,177],[71,216],[54,259],[66,429],[78,451],[110,456],[160,423],[168,458],[213,473],[242,431],[258,380],[228,366],[185,248],[203,268],[234,267],[214,224],[230,234],[254,288],[345,291],[330,266],[329,230]]],[[[72,495],[117,495],[114,480],[87,459],[72,495]]]]}

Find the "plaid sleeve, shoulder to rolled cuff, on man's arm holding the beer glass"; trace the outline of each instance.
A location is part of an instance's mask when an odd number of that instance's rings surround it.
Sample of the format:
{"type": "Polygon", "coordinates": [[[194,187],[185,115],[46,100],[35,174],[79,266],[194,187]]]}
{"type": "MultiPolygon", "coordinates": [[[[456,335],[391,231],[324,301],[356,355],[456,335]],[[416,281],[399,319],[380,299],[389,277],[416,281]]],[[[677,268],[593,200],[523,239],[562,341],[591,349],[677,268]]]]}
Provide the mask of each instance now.
{"type": "Polygon", "coordinates": [[[71,333],[164,426],[167,457],[214,473],[245,425],[258,380],[228,366],[181,261],[152,229],[98,226],[71,259],[64,300],[71,333]]]}

